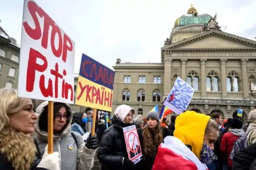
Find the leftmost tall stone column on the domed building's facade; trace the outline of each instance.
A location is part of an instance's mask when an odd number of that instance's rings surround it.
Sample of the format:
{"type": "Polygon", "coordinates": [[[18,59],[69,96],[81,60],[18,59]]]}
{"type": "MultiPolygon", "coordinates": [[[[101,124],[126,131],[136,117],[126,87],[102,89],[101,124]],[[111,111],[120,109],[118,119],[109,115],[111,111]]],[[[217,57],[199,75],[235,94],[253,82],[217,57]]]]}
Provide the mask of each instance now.
{"type": "Polygon", "coordinates": [[[167,97],[171,92],[171,81],[172,81],[172,59],[164,60],[164,95],[167,97]]]}

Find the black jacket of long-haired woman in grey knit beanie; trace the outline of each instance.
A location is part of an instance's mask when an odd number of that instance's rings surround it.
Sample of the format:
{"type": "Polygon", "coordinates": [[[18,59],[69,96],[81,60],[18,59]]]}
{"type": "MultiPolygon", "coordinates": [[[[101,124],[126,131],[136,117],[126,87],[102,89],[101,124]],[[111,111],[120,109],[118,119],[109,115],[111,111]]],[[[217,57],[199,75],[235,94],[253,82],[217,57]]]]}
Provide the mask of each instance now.
{"type": "MultiPolygon", "coordinates": [[[[173,136],[173,132],[168,128],[162,128],[163,138],[166,136],[173,136]]],[[[141,148],[143,148],[143,136],[142,136],[142,129],[138,129],[138,135],[140,140],[141,148]]],[[[143,154],[143,152],[142,152],[143,154]]],[[[155,161],[155,158],[149,158],[143,154],[143,159],[136,164],[137,170],[151,170],[155,161]]]]}

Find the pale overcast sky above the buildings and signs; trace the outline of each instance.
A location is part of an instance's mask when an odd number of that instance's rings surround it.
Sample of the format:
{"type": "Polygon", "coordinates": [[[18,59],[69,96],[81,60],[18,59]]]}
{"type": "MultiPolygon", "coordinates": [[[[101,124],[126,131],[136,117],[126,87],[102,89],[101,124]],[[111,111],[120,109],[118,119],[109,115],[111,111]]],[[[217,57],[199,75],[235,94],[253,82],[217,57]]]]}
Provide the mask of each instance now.
{"type": "MultiPolygon", "coordinates": [[[[113,69],[122,62],[160,62],[175,20],[193,4],[225,32],[255,40],[255,0],[36,0],[75,41],[75,73],[82,53],[113,69]]],[[[1,0],[0,26],[20,44],[23,0],[1,0]]]]}

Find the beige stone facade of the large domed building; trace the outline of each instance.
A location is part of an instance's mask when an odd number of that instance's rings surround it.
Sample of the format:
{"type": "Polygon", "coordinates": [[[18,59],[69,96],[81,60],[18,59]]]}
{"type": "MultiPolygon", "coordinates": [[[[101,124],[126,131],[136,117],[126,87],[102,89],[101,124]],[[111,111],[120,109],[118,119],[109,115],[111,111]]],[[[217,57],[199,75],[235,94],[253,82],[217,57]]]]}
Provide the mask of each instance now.
{"type": "MultiPolygon", "coordinates": [[[[192,30],[194,32],[194,29],[192,30]]],[[[187,32],[175,33],[178,40],[187,32]],[[179,37],[180,36],[180,37],[179,37]]],[[[250,83],[256,83],[256,42],[225,32],[211,30],[191,34],[161,48],[161,63],[116,63],[113,111],[121,104],[130,105],[146,115],[155,105],[162,105],[177,78],[190,82],[195,93],[187,110],[199,113],[219,112],[232,118],[243,109],[242,120],[256,108],[250,83]],[[130,76],[130,82],[124,82],[130,76]],[[145,83],[139,83],[139,77],[145,83]],[[154,83],[161,77],[161,83],[154,83]],[[130,92],[129,101],[123,92],[130,92]],[[145,92],[145,101],[137,101],[138,92],[145,92]],[[153,93],[161,93],[161,101],[153,102],[153,93]],[[142,109],[142,110],[141,110],[142,109]]]]}

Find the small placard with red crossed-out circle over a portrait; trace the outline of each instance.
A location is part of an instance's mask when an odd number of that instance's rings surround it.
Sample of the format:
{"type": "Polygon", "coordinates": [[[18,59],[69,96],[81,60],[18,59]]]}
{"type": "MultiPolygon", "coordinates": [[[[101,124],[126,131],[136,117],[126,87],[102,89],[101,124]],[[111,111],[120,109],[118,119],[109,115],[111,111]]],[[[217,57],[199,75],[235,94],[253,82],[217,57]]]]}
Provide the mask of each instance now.
{"type": "Polygon", "coordinates": [[[140,140],[135,125],[123,128],[126,150],[129,160],[134,164],[138,163],[142,158],[140,140]]]}

